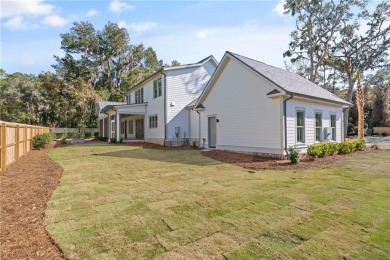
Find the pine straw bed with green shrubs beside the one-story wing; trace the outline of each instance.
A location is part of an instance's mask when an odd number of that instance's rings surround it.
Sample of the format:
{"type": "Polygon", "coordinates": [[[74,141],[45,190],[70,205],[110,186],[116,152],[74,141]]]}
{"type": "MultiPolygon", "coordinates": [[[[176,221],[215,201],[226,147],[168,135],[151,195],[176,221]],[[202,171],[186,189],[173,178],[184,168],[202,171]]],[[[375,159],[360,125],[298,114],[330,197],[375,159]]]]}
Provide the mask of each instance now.
{"type": "Polygon", "coordinates": [[[227,151],[203,151],[202,155],[210,157],[214,160],[235,164],[244,168],[253,170],[304,170],[309,168],[326,168],[334,165],[339,160],[356,156],[363,153],[380,153],[388,152],[386,150],[374,150],[372,148],[366,148],[365,151],[358,151],[352,154],[346,155],[332,155],[324,158],[301,158],[298,164],[291,164],[289,160],[275,159],[271,157],[261,157],[258,155],[249,155],[243,153],[233,153],[227,151]]]}

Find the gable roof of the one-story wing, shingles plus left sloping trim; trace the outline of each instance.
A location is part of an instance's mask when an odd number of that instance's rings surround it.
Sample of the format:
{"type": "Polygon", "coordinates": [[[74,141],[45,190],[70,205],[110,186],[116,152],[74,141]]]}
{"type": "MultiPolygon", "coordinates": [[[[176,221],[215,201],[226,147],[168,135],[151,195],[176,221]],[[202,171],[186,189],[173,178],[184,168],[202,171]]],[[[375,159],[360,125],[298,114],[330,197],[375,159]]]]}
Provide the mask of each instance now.
{"type": "MultiPolygon", "coordinates": [[[[213,85],[213,78],[217,77],[218,70],[223,70],[223,63],[228,58],[233,58],[242,65],[250,68],[255,73],[261,75],[268,81],[275,84],[278,89],[274,89],[271,92],[268,93],[268,95],[275,95],[279,92],[285,92],[286,94],[294,95],[294,96],[300,96],[304,98],[311,98],[316,100],[322,100],[326,102],[331,103],[337,103],[341,104],[343,106],[351,106],[351,103],[339,98],[335,94],[327,91],[326,89],[318,86],[317,84],[311,82],[310,80],[287,70],[280,69],[268,64],[265,64],[263,62],[235,54],[232,52],[227,51],[222,58],[222,61],[218,65],[218,68],[212,78],[210,79],[209,83],[207,84],[206,88],[204,89],[203,93],[201,94],[198,102],[196,105],[198,106],[203,100],[206,98],[207,94],[209,93],[210,89],[213,85]]],[[[283,93],[280,93],[283,94],[283,93]]]]}

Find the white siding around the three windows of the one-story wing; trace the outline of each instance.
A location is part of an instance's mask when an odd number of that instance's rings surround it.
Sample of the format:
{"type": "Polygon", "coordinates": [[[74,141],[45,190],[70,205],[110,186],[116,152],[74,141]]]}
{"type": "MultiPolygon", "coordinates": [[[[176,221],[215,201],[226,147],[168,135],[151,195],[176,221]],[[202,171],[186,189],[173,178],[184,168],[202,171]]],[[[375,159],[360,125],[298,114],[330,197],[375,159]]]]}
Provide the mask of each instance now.
{"type": "MultiPolygon", "coordinates": [[[[315,143],[315,113],[322,114],[322,139],[324,139],[324,128],[330,127],[330,115],[336,115],[336,141],[342,141],[341,126],[343,109],[337,105],[328,105],[315,101],[305,101],[293,98],[287,101],[287,146],[297,145],[305,148],[315,143]],[[305,112],[305,143],[296,142],[296,112],[305,112]]],[[[303,151],[305,151],[303,149],[303,151]]]]}

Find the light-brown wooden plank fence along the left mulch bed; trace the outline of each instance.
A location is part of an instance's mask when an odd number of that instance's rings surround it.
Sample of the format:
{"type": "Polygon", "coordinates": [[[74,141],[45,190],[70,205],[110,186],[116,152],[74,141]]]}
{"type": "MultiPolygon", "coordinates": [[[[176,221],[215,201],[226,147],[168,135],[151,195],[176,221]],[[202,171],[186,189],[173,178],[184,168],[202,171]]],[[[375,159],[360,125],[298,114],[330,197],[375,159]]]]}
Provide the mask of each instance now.
{"type": "Polygon", "coordinates": [[[7,165],[18,161],[31,150],[31,140],[37,134],[48,133],[49,128],[0,121],[0,167],[5,173],[7,165]]]}

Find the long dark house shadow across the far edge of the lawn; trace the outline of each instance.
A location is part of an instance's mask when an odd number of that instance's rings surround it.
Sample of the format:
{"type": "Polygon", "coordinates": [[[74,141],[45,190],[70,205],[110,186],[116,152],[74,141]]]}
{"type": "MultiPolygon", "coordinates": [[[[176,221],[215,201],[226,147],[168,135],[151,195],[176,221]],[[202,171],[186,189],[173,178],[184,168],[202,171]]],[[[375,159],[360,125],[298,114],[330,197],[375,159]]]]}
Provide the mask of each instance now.
{"type": "Polygon", "coordinates": [[[180,163],[197,166],[222,165],[224,163],[204,157],[197,150],[153,150],[127,149],[115,152],[96,153],[94,156],[129,158],[139,160],[160,161],[165,163],[180,163]]]}

